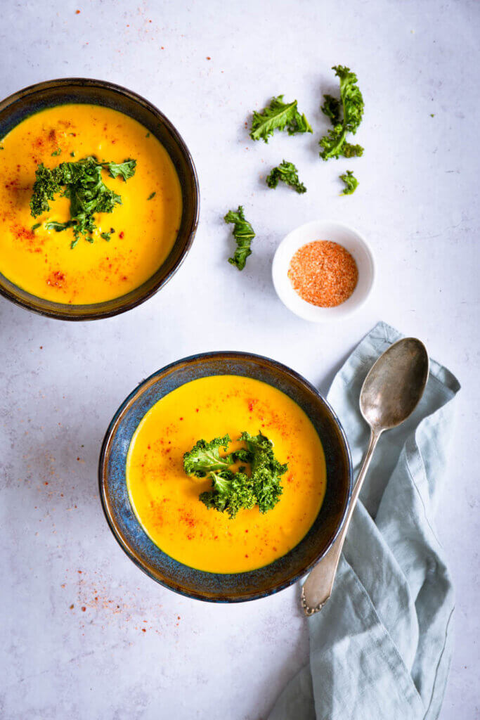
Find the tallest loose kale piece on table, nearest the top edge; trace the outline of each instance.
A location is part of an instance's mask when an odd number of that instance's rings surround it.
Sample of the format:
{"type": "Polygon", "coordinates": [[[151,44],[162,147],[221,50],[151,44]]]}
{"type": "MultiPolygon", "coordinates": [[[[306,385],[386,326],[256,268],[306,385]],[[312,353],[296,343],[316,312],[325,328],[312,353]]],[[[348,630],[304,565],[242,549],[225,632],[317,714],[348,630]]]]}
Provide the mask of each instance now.
{"type": "Polygon", "coordinates": [[[363,117],[363,97],[357,85],[357,76],[350,72],[350,68],[342,65],[333,66],[332,70],[335,70],[335,75],[340,78],[341,102],[335,101],[331,95],[324,95],[322,112],[330,117],[333,127],[320,140],[322,148],[320,157],[328,160],[340,156],[345,158],[361,156],[363,154],[361,145],[350,145],[346,142],[348,132],[355,135],[363,117]]]}

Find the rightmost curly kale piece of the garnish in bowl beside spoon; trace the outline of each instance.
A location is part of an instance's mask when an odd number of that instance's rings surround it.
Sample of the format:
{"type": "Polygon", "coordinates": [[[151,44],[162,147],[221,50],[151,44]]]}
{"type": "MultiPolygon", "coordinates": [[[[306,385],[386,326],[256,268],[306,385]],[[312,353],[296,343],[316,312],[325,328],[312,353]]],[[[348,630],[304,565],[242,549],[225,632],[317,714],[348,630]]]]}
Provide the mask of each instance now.
{"type": "Polygon", "coordinates": [[[266,513],[275,507],[283,492],[281,476],[288,465],[281,464],[273,454],[273,443],[262,433],[250,435],[243,432],[240,440],[245,441],[251,456],[253,491],[258,509],[266,513]]]}

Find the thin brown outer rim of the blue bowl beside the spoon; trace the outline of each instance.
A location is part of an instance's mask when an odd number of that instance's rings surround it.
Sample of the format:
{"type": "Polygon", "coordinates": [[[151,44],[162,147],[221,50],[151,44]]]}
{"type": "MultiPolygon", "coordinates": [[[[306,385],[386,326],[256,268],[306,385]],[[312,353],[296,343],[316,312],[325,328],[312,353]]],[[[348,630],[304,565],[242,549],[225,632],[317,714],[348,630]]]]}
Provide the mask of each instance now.
{"type": "MultiPolygon", "coordinates": [[[[140,396],[140,395],[139,395],[140,396]]],[[[310,383],[306,378],[304,378],[301,374],[296,372],[295,370],[291,369],[289,366],[286,366],[279,361],[273,360],[271,358],[268,358],[264,355],[258,355],[255,353],[248,353],[243,351],[209,351],[205,353],[196,353],[193,355],[186,356],[184,358],[180,358],[178,360],[175,360],[168,365],[163,366],[159,370],[153,372],[151,375],[149,375],[147,378],[142,380],[137,387],[135,387],[132,392],[127,395],[125,400],[119,405],[119,408],[117,409],[116,413],[114,414],[112,420],[109,423],[109,426],[107,428],[107,432],[105,433],[104,440],[101,444],[101,451],[99,455],[99,495],[101,500],[101,507],[104,511],[104,516],[107,520],[107,524],[112,531],[112,534],[114,538],[117,540],[117,543],[122,548],[125,554],[132,560],[132,562],[140,568],[143,572],[145,572],[145,575],[148,575],[152,580],[155,580],[155,582],[158,582],[159,585],[162,585],[164,588],[167,588],[168,590],[172,590],[174,593],[178,593],[178,595],[183,595],[186,598],[191,598],[193,600],[204,600],[205,602],[210,603],[243,603],[248,602],[249,600],[258,600],[260,598],[266,598],[268,595],[274,595],[275,593],[279,593],[280,590],[284,590],[285,588],[289,588],[290,585],[293,585],[294,582],[299,580],[301,577],[304,577],[304,575],[307,575],[307,572],[312,570],[312,568],[317,564],[317,562],[322,559],[322,557],[327,554],[327,552],[330,550],[332,544],[335,542],[335,539],[337,539],[338,534],[340,533],[340,530],[343,528],[343,524],[345,523],[345,516],[348,511],[348,507],[350,505],[351,495],[353,492],[353,463],[352,463],[352,457],[350,453],[350,445],[348,444],[348,439],[345,434],[345,430],[343,429],[342,423],[340,423],[340,420],[338,418],[337,413],[335,413],[335,410],[333,410],[332,406],[330,405],[330,402],[325,400],[325,397],[323,397],[320,392],[317,390],[312,383],[310,383]],[[343,508],[342,518],[340,523],[338,524],[338,527],[335,530],[335,534],[330,539],[330,542],[325,546],[325,549],[322,550],[322,552],[319,552],[312,562],[307,564],[302,570],[299,572],[296,572],[295,575],[292,575],[291,577],[288,577],[283,582],[278,582],[276,585],[272,585],[268,590],[258,590],[258,591],[252,591],[250,593],[247,593],[245,595],[242,595],[241,597],[237,597],[235,595],[230,595],[228,593],[222,593],[222,595],[215,596],[208,596],[204,595],[201,592],[195,592],[194,590],[185,590],[184,588],[181,588],[179,585],[173,585],[169,584],[168,582],[165,582],[164,580],[160,580],[158,577],[156,577],[153,572],[150,572],[148,567],[145,567],[142,562],[135,557],[135,554],[130,549],[129,544],[127,544],[126,541],[124,541],[122,534],[117,530],[116,523],[114,521],[114,518],[112,516],[112,513],[109,511],[109,503],[107,502],[106,494],[104,491],[105,483],[104,483],[104,474],[107,472],[107,451],[109,449],[110,444],[112,443],[112,439],[114,437],[114,433],[117,429],[117,425],[119,423],[119,420],[122,418],[122,415],[125,410],[127,410],[130,405],[132,405],[132,402],[135,400],[135,397],[140,394],[140,391],[142,390],[145,385],[150,383],[155,377],[158,377],[158,379],[161,379],[160,376],[166,374],[167,372],[174,369],[176,366],[180,364],[193,364],[196,361],[204,361],[209,359],[253,359],[253,360],[260,360],[266,362],[266,364],[270,365],[271,367],[280,370],[281,372],[284,372],[287,376],[292,377],[296,379],[297,382],[300,382],[306,387],[306,389],[315,397],[315,400],[317,402],[320,402],[322,405],[325,406],[328,413],[330,413],[333,422],[338,428],[338,431],[340,433],[340,438],[343,441],[343,449],[345,450],[345,459],[347,464],[347,471],[348,471],[348,492],[347,497],[345,501],[345,507],[343,508]]],[[[135,513],[134,513],[135,514],[135,513]]],[[[137,522],[138,518],[137,518],[137,522]]],[[[140,524],[140,523],[139,523],[140,524]]],[[[301,541],[300,541],[301,542],[301,541]]],[[[294,549],[294,548],[292,548],[294,549]]],[[[160,552],[164,552],[159,548],[160,552]]],[[[288,554],[288,553],[287,553],[288,554]]],[[[171,557],[171,556],[168,556],[171,557]]],[[[181,562],[181,561],[176,561],[181,562]]],[[[190,567],[190,566],[186,566],[190,567]]],[[[206,571],[204,571],[206,572],[206,571]]],[[[228,575],[229,573],[227,573],[228,575]]],[[[243,573],[233,573],[234,575],[242,575],[243,573]]]]}

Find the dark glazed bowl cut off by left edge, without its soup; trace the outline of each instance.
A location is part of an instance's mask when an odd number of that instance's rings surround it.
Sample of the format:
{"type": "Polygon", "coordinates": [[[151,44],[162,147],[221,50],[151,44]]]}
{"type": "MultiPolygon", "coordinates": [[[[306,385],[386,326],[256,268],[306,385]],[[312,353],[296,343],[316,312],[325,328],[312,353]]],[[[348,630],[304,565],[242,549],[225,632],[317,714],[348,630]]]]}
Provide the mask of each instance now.
{"type": "Polygon", "coordinates": [[[199,184],[194,162],[184,140],[165,115],[145,98],[103,80],[60,78],[31,85],[0,102],[0,140],[29,115],[67,103],[103,105],[130,115],[166,148],[181,184],[183,210],[180,229],[163,265],[140,287],[126,295],[92,305],[65,305],[25,292],[0,274],[0,294],[8,300],[59,320],[99,320],[119,315],[148,300],[178,270],[194,240],[199,220],[199,184]]]}

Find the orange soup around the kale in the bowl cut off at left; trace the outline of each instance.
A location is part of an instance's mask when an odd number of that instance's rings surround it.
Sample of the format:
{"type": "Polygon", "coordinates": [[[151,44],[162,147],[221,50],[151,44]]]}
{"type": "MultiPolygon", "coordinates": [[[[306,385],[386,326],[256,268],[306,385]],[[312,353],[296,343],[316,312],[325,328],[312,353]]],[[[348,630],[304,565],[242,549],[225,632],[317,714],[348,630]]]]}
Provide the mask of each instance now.
{"type": "Polygon", "coordinates": [[[139,287],[165,261],[180,224],[181,187],[165,148],[139,122],[99,105],[59,105],[27,117],[0,146],[0,272],[14,284],[45,300],[90,304],[139,287]],[[94,242],[80,235],[71,249],[72,228],[45,228],[46,220],[70,220],[70,200],[56,195],[50,211],[33,218],[32,186],[39,163],[53,168],[87,156],[133,158],[137,166],[127,181],[101,171],[122,204],[94,215],[94,242]],[[101,233],[111,228],[107,242],[101,233]]]}

